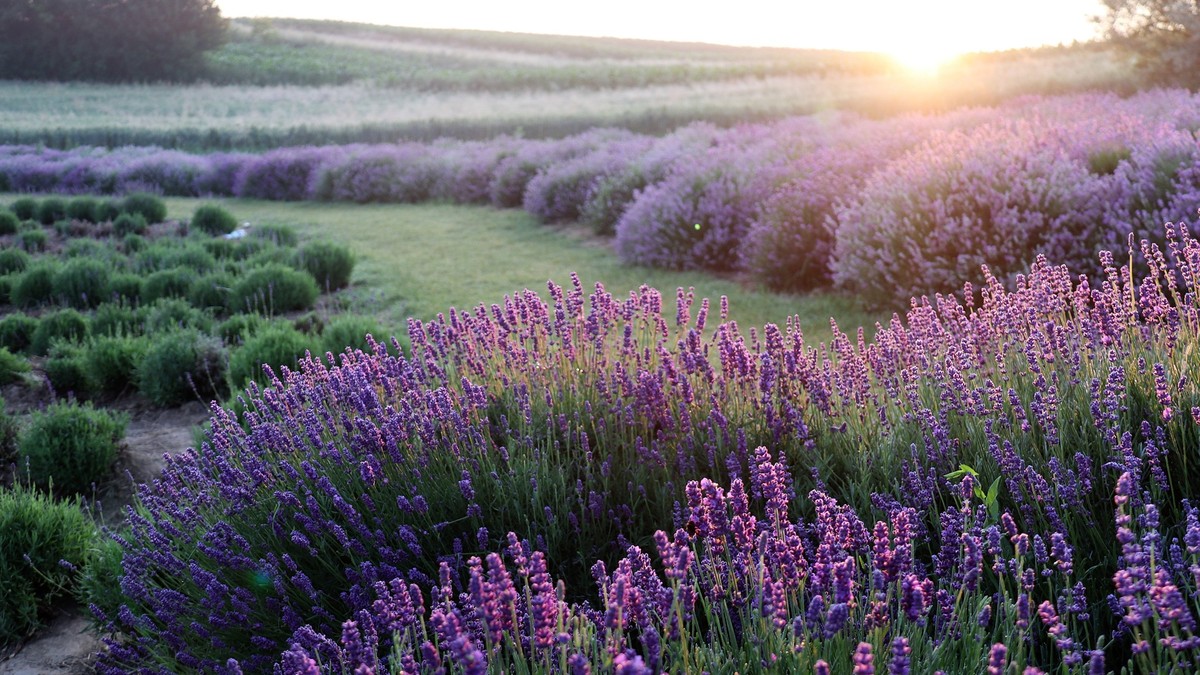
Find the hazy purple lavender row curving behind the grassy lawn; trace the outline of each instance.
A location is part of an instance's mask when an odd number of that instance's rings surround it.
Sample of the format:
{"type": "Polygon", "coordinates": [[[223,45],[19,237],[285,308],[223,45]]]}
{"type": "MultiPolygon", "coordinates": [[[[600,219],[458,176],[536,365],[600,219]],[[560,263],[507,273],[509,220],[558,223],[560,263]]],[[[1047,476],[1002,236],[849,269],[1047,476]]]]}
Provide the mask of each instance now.
{"type": "Polygon", "coordinates": [[[0,149],[14,191],[523,205],[616,233],[626,262],[745,270],[775,289],[835,283],[878,301],[950,292],[980,264],[1096,253],[1200,207],[1200,100],[1186,91],[1022,98],[883,121],[818,115],[664,138],[292,148],[0,149]]]}

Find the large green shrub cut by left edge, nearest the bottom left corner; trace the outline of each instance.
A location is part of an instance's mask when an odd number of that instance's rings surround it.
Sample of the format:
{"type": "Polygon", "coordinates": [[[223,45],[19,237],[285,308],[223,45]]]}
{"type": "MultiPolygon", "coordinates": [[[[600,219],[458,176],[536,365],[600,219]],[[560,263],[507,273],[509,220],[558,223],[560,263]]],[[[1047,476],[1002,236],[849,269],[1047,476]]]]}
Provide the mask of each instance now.
{"type": "Polygon", "coordinates": [[[84,565],[96,537],[79,500],[58,501],[22,484],[0,488],[0,646],[36,631],[62,593],[73,592],[74,573],[60,565],[84,565]]]}

